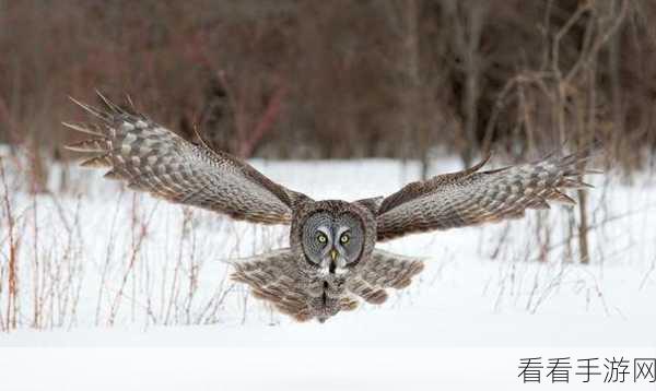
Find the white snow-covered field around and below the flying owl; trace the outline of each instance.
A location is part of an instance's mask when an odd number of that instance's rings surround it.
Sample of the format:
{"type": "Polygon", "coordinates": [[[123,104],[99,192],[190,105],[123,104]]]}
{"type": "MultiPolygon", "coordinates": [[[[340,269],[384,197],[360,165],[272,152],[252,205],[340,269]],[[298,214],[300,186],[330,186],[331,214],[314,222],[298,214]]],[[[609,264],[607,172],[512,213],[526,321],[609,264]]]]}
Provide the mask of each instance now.
{"type": "MultiPolygon", "coordinates": [[[[415,164],[394,161],[254,165],[315,199],[389,194],[419,175],[415,164]]],[[[433,165],[435,174],[459,168],[456,159],[433,165]]],[[[5,169],[8,187],[20,187],[21,176],[10,165],[5,169]]],[[[52,189],[58,188],[58,173],[55,167],[52,189]]],[[[504,375],[512,383],[517,382],[516,367],[525,352],[563,347],[574,356],[577,351],[602,356],[614,348],[618,355],[654,357],[656,183],[646,175],[636,176],[630,186],[617,178],[612,173],[588,178],[596,188],[589,191],[587,265],[577,263],[576,237],[567,240],[570,223],[578,214],[561,205],[530,211],[520,221],[411,236],[379,246],[427,258],[412,286],[394,292],[382,306],[363,304],[320,324],[295,323],[226,279],[230,266],[223,260],[285,246],[284,227],[233,223],[169,205],[122,190],[97,171],[75,168],[69,178],[74,190],[66,194],[9,193],[13,235],[7,208],[1,208],[0,325],[5,330],[15,322],[17,330],[0,333],[0,346],[277,347],[288,357],[295,356],[296,348],[335,347],[410,348],[424,352],[414,354],[421,357],[445,352],[457,357],[484,347],[506,352],[502,356],[507,359],[500,363],[512,365],[514,375],[504,375]],[[19,262],[13,296],[8,286],[11,244],[19,262]]],[[[21,357],[39,351],[4,352],[21,357]]],[[[134,357],[156,356],[145,352],[136,351],[134,357]]],[[[367,352],[375,362],[377,354],[367,352]]],[[[95,355],[87,352],[82,357],[95,355]]],[[[4,354],[4,362],[10,356],[4,354]]],[[[435,363],[441,360],[444,357],[435,363]]],[[[0,366],[4,362],[0,358],[0,366]]],[[[373,370],[372,365],[363,370],[373,370]]],[[[220,389],[214,386],[209,389],[220,389]]]]}

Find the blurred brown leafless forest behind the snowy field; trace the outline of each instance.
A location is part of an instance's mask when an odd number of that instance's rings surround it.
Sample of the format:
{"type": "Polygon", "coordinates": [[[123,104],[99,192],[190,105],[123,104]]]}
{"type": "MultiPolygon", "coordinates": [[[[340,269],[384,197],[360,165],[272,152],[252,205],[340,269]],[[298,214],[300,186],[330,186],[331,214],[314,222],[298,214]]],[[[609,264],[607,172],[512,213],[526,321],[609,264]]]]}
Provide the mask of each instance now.
{"type": "Polygon", "coordinates": [[[243,157],[595,139],[630,169],[656,144],[655,22],[654,0],[0,0],[0,143],[61,158],[68,96],[98,90],[243,157]]]}

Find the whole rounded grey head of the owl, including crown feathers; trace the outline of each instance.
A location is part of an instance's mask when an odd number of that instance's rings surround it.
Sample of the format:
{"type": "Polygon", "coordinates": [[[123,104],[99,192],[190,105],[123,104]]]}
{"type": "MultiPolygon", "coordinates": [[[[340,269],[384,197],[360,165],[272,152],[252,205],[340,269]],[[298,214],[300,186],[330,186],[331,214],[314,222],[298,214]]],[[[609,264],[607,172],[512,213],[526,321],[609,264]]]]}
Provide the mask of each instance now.
{"type": "Polygon", "coordinates": [[[345,201],[309,202],[292,220],[290,242],[303,269],[318,275],[344,275],[362,268],[375,240],[371,211],[345,201]]]}

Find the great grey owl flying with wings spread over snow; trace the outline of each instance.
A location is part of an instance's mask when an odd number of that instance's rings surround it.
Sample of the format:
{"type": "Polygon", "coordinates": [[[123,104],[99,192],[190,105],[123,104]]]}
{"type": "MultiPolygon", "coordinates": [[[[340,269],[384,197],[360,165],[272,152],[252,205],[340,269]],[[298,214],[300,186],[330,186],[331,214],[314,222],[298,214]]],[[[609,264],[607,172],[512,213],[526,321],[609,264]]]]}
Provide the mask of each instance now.
{"type": "Polygon", "coordinates": [[[91,135],[68,146],[90,154],[81,165],[105,167],[105,177],[172,202],[250,223],[290,225],[289,248],[230,261],[231,277],[298,321],[324,322],[361,300],[382,304],[389,289],[407,287],[423,270],[423,260],[384,251],[377,242],[518,218],[527,209],[548,209],[548,201],[573,203],[562,189],[588,186],[581,177],[589,153],[579,152],[493,170],[481,170],[484,158],[388,197],[315,201],[200,138],[191,143],[99,98],[103,108],[73,99],[93,117],[91,123],[63,123],[91,135]]]}

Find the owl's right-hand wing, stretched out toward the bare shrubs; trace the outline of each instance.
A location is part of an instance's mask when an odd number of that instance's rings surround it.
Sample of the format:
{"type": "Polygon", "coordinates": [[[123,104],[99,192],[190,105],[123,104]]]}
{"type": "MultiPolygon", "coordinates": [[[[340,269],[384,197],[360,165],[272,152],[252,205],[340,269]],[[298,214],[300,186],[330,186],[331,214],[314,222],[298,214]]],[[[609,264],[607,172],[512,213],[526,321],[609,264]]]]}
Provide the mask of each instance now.
{"type": "Polygon", "coordinates": [[[469,169],[407,185],[380,203],[377,238],[517,218],[526,209],[548,209],[551,200],[574,203],[561,190],[589,187],[581,180],[588,156],[586,151],[478,171],[485,158],[469,169]]]}

